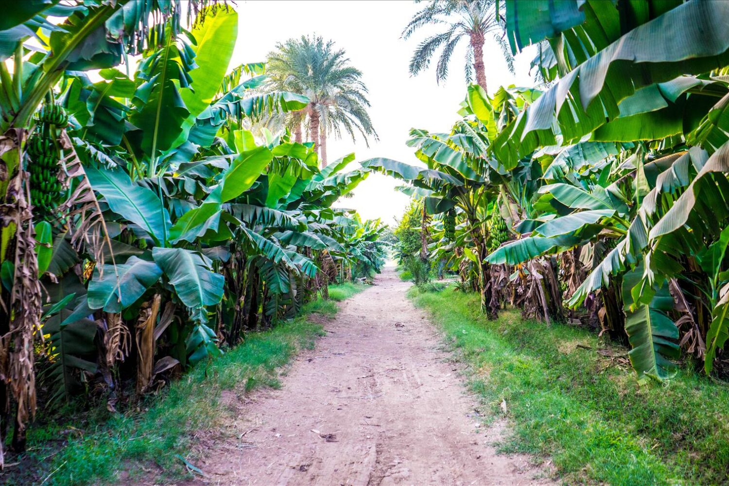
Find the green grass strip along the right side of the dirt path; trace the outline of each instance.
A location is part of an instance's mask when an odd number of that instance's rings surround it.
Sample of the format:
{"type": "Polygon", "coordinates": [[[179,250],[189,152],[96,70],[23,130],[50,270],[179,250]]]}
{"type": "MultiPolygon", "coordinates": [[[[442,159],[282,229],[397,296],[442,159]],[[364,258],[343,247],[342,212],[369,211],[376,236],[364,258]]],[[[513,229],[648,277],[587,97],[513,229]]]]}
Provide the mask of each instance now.
{"type": "Polygon", "coordinates": [[[634,372],[598,353],[594,332],[478,315],[477,298],[445,289],[410,297],[432,314],[491,418],[507,404],[503,452],[552,458],[567,484],[718,484],[729,471],[729,388],[685,366],[665,385],[639,386],[634,372]],[[585,349],[577,345],[588,347],[585,349]]]}

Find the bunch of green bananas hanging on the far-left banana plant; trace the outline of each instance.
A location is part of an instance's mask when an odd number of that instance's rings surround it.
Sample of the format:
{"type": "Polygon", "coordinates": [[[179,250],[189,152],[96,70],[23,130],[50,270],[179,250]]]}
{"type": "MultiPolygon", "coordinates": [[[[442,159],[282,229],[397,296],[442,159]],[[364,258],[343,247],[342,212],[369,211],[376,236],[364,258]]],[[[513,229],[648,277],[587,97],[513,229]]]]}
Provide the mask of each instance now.
{"type": "Polygon", "coordinates": [[[27,150],[31,161],[31,204],[39,213],[50,213],[61,200],[61,182],[58,181],[58,160],[61,155],[55,144],[55,130],[69,123],[66,111],[57,104],[42,106],[36,115],[36,134],[28,139],[27,150]]]}

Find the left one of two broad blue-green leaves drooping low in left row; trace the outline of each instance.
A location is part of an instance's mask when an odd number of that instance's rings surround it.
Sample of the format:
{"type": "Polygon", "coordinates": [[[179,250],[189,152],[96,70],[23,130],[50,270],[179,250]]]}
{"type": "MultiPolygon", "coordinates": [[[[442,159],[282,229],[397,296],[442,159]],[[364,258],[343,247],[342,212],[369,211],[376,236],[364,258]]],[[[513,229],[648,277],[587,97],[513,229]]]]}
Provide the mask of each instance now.
{"type": "Polygon", "coordinates": [[[103,275],[97,267],[88,286],[88,306],[90,309],[120,313],[136,302],[161,276],[162,270],[155,262],[136,256],[130,256],[124,264],[105,264],[103,275]]]}

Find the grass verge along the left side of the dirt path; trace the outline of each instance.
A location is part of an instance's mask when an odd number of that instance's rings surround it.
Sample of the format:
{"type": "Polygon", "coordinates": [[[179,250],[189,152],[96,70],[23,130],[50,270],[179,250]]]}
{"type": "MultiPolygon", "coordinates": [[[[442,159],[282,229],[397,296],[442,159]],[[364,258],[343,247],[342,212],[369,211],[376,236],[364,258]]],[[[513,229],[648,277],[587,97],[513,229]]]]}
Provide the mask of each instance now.
{"type": "MultiPolygon", "coordinates": [[[[332,317],[335,301],[348,299],[366,286],[330,286],[330,300],[309,302],[302,315],[265,332],[248,334],[246,341],[208,364],[193,368],[172,383],[163,396],[148,397],[147,407],[112,415],[104,409],[74,412],[74,420],[31,426],[28,452],[20,468],[0,474],[10,485],[98,485],[131,482],[157,474],[159,479],[184,477],[184,461],[193,434],[214,428],[230,413],[221,401],[224,391],[244,393],[259,385],[278,387],[279,369],[302,349],[313,348],[325,334],[313,313],[332,317]],[[184,459],[183,459],[184,458],[184,459]]],[[[63,412],[59,413],[64,417],[63,412]]]]}

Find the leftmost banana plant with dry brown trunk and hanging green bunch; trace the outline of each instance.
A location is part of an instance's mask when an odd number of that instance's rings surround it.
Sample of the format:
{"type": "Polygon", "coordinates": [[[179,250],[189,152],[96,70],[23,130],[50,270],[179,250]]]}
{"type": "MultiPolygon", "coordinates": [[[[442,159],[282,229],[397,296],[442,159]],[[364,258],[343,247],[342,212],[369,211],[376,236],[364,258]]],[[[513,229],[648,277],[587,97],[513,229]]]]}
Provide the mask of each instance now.
{"type": "MultiPolygon", "coordinates": [[[[193,12],[204,10],[210,3],[196,0],[61,4],[31,0],[15,5],[0,26],[5,39],[0,60],[12,60],[13,66],[12,73],[7,63],[0,66],[0,128],[4,140],[1,159],[5,174],[0,197],[6,208],[0,259],[9,276],[7,281],[12,282],[2,296],[6,305],[1,321],[7,324],[0,326],[0,331],[7,338],[1,346],[6,350],[3,354],[7,356],[8,369],[12,369],[7,376],[9,381],[2,384],[2,393],[7,393],[9,387],[17,403],[13,438],[17,450],[23,450],[25,423],[36,408],[32,342],[41,325],[41,290],[32,209],[55,203],[53,197],[46,195],[39,200],[41,191],[58,191],[51,171],[42,173],[35,169],[42,163],[52,165],[54,159],[58,161],[59,145],[63,143],[58,132],[66,124],[65,116],[53,106],[53,90],[68,70],[110,68],[121,63],[124,54],[137,55],[158,42],[163,32],[176,35],[184,17],[192,20],[193,12]],[[49,17],[63,20],[51,22],[49,17]],[[36,45],[31,46],[31,41],[37,41],[36,45]],[[42,103],[44,109],[39,111],[42,103]],[[26,147],[31,133],[43,136],[42,143],[26,147]],[[28,154],[36,157],[36,165],[30,165],[28,154]],[[43,162],[37,158],[41,155],[43,162]],[[34,192],[28,191],[28,186],[34,192]]],[[[9,412],[4,407],[3,420],[7,420],[9,412]]]]}

